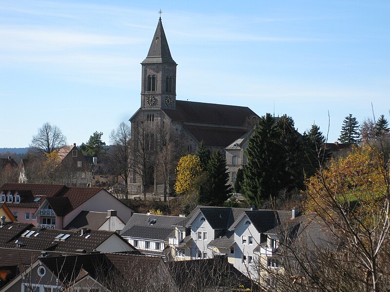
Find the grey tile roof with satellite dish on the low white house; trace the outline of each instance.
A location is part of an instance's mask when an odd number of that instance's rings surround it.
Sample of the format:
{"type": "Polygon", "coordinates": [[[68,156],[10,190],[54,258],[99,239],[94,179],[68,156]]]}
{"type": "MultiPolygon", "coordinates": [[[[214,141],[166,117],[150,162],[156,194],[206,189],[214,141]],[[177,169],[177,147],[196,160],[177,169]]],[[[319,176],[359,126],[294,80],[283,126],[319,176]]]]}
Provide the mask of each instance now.
{"type": "Polygon", "coordinates": [[[161,215],[147,215],[147,214],[133,214],[133,216],[126,223],[121,235],[124,237],[147,238],[164,240],[175,231],[174,225],[183,218],[174,216],[161,215]],[[149,224],[155,220],[154,224],[149,224]]]}

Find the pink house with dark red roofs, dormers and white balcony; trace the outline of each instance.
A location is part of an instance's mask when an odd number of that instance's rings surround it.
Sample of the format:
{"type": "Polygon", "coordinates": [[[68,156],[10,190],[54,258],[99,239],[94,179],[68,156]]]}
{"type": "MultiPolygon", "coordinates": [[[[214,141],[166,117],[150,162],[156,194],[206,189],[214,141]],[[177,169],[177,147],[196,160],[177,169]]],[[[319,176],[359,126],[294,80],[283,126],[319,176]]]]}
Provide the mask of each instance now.
{"type": "Polygon", "coordinates": [[[56,229],[63,229],[81,211],[112,208],[123,222],[134,212],[103,188],[63,184],[5,183],[0,188],[0,202],[5,202],[20,222],[56,229]]]}

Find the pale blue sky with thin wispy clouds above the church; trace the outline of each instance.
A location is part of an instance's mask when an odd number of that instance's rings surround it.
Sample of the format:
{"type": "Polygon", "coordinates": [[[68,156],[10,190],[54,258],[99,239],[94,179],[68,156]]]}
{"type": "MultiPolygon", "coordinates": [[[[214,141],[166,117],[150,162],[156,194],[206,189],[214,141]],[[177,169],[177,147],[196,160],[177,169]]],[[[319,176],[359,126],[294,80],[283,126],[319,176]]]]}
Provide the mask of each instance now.
{"type": "Polygon", "coordinates": [[[28,146],[47,121],[69,145],[95,131],[109,144],[140,107],[159,9],[177,99],[329,125],[329,142],[371,103],[390,120],[389,1],[1,0],[0,147],[28,146]]]}

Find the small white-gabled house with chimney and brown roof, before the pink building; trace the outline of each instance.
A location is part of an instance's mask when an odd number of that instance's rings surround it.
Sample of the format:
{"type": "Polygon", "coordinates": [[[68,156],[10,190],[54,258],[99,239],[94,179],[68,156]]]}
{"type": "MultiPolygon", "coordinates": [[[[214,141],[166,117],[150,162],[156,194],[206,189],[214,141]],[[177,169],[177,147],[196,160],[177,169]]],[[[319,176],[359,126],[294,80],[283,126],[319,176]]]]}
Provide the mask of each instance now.
{"type": "Polygon", "coordinates": [[[117,210],[108,210],[107,212],[81,211],[64,229],[79,230],[86,228],[116,231],[119,234],[124,227],[125,223],[117,217],[117,210]]]}

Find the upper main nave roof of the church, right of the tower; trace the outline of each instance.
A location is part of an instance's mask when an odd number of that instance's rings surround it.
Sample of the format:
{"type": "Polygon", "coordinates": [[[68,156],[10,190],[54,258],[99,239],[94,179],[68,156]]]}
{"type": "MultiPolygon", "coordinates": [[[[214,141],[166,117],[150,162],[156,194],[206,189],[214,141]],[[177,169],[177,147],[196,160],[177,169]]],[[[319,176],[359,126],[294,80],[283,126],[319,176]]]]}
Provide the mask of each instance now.
{"type": "Polygon", "coordinates": [[[176,110],[164,109],[163,111],[173,121],[238,127],[243,127],[248,118],[257,116],[248,107],[183,100],[176,100],[176,110]]]}

